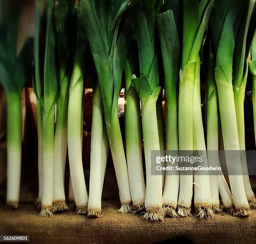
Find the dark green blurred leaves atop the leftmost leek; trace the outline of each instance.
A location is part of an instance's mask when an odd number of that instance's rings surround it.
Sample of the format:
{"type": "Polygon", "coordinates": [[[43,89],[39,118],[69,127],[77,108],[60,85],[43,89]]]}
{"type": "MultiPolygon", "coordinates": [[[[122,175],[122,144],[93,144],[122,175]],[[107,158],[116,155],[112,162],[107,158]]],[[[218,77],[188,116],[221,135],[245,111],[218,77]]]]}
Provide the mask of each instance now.
{"type": "Polygon", "coordinates": [[[17,57],[19,5],[13,6],[12,9],[7,8],[5,4],[3,6],[5,7],[3,16],[6,19],[0,23],[1,30],[3,30],[0,38],[0,63],[2,66],[0,82],[6,92],[20,94],[25,86],[28,72],[31,70],[33,42],[31,38],[28,38],[17,57]]]}

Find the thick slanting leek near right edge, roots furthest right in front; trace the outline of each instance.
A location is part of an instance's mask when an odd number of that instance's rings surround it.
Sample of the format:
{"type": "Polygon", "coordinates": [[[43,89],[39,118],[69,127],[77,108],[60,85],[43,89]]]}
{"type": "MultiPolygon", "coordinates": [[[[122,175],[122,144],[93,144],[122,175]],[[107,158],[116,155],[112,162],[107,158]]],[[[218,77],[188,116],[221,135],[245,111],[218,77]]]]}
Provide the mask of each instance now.
{"type": "Polygon", "coordinates": [[[215,80],[219,98],[220,121],[223,134],[226,163],[229,174],[236,169],[235,175],[229,175],[231,191],[236,215],[248,215],[249,205],[243,184],[241,171],[240,146],[236,108],[232,86],[233,53],[236,42],[238,25],[243,13],[243,1],[215,0],[215,7],[211,20],[211,30],[216,51],[215,80]],[[217,24],[216,24],[217,23],[217,24]],[[233,151],[228,153],[227,150],[233,151]]]}

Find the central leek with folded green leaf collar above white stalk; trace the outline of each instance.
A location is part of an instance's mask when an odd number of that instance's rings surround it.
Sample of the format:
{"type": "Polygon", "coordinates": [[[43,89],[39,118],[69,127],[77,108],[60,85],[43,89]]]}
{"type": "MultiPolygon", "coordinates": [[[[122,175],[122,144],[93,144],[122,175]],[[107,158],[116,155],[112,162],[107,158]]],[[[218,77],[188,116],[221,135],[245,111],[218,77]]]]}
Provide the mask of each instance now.
{"type": "MultiPolygon", "coordinates": [[[[141,73],[141,78],[136,78],[133,75],[133,86],[141,100],[142,132],[146,160],[146,213],[143,218],[150,220],[162,220],[164,217],[162,213],[162,176],[151,175],[151,151],[163,149],[160,148],[160,144],[163,143],[163,137],[161,136],[162,122],[157,117],[156,108],[161,86],[159,86],[158,58],[154,36],[156,14],[159,12],[161,5],[162,1],[154,2],[152,6],[151,3],[143,1],[143,4],[136,6],[133,14],[141,73]]],[[[161,100],[159,101],[161,102],[161,100]]]]}

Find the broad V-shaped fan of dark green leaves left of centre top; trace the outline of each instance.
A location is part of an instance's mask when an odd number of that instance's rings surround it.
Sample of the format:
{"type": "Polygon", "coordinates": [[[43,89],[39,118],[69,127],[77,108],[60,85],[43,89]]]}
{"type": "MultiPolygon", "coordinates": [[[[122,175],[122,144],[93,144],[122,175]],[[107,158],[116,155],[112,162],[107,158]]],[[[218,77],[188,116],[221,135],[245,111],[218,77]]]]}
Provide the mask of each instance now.
{"type": "MultiPolygon", "coordinates": [[[[103,2],[105,3],[105,1],[103,2]]],[[[121,2],[123,3],[123,1],[121,2]]],[[[121,2],[115,2],[116,10],[118,8],[123,9],[121,2]]],[[[116,21],[112,12],[110,14],[110,10],[113,11],[110,6],[112,6],[112,3],[109,0],[102,6],[94,6],[90,1],[85,0],[81,1],[80,4],[82,18],[86,25],[86,32],[100,81],[105,118],[109,123],[112,110],[117,104],[117,98],[120,93],[121,77],[130,42],[130,38],[127,38],[128,26],[124,23],[121,28],[119,27],[120,21],[116,21]],[[103,31],[102,28],[104,29],[103,31]]]]}

